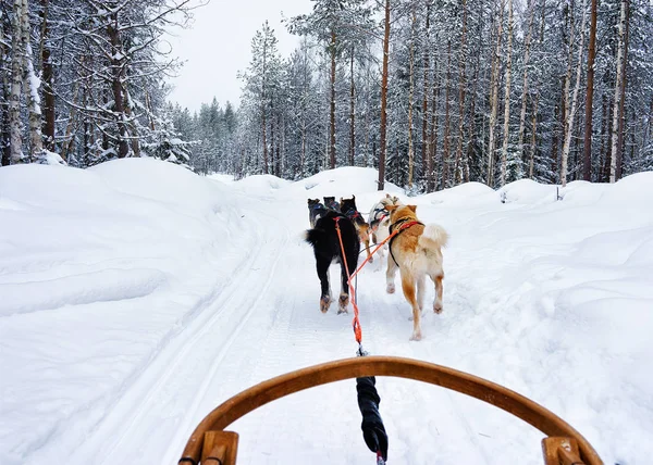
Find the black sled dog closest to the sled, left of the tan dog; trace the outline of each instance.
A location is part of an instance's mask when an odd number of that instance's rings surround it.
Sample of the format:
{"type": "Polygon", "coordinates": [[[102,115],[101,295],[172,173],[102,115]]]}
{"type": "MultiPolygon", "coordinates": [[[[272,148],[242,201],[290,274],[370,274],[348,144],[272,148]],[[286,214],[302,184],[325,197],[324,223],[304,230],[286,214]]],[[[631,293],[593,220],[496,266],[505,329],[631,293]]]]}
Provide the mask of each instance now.
{"type": "Polygon", "coordinates": [[[313,248],[316,254],[316,265],[318,268],[318,277],[322,287],[320,296],[320,310],[322,313],[329,310],[331,304],[331,286],[329,284],[329,266],[332,262],[337,261],[341,264],[341,294],[340,309],[337,313],[347,312],[349,304],[349,287],[347,285],[347,272],[345,269],[345,261],[349,267],[349,273],[354,273],[358,265],[358,253],[360,252],[360,240],[356,232],[356,227],[346,216],[329,211],[316,222],[316,227],[306,231],[306,241],[313,248]],[[345,257],[341,243],[335,230],[335,225],[341,230],[343,247],[345,249],[345,257]]]}

